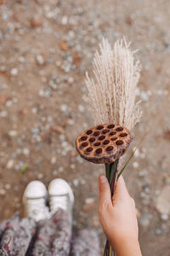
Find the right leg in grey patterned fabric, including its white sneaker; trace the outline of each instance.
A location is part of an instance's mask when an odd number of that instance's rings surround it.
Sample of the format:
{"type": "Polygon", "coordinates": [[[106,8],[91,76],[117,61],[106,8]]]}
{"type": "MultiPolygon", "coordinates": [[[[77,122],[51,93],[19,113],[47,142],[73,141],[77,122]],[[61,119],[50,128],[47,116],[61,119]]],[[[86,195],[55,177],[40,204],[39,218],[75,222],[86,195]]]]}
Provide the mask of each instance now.
{"type": "Polygon", "coordinates": [[[63,179],[54,179],[48,187],[52,218],[37,223],[33,255],[67,256],[71,245],[74,195],[63,179]]]}

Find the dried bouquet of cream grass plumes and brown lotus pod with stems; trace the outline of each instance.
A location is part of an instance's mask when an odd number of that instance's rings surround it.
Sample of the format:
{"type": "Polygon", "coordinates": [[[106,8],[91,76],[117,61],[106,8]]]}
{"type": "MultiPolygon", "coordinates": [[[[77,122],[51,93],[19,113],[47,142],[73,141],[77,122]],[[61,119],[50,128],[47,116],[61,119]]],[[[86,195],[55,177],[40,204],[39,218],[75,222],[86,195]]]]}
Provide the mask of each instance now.
{"type": "MultiPolygon", "coordinates": [[[[141,117],[136,102],[140,66],[133,54],[125,39],[117,41],[111,49],[111,44],[103,38],[94,54],[92,78],[86,73],[95,126],[77,137],[76,148],[82,158],[105,164],[111,195],[122,172],[118,171],[119,159],[132,142],[130,131],[141,117]]],[[[104,255],[112,253],[106,241],[104,255]]]]}

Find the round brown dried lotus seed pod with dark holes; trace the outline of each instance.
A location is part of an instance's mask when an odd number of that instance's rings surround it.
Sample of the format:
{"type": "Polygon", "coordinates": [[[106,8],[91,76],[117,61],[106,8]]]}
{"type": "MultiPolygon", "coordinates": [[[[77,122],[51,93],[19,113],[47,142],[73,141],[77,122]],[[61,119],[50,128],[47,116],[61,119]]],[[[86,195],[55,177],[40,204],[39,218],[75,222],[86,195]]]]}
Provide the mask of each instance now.
{"type": "Polygon", "coordinates": [[[133,137],[121,125],[96,125],[77,137],[76,147],[82,158],[95,164],[111,164],[125,153],[133,137]]]}

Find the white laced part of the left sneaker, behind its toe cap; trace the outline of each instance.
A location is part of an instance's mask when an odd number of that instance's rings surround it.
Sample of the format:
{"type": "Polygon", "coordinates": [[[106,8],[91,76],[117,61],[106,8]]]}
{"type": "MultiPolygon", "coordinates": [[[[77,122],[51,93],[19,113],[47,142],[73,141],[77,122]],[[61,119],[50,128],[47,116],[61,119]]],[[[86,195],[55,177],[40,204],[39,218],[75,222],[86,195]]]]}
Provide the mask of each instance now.
{"type": "Polygon", "coordinates": [[[45,205],[44,198],[28,198],[26,204],[27,216],[32,218],[48,218],[48,207],[45,205]]]}

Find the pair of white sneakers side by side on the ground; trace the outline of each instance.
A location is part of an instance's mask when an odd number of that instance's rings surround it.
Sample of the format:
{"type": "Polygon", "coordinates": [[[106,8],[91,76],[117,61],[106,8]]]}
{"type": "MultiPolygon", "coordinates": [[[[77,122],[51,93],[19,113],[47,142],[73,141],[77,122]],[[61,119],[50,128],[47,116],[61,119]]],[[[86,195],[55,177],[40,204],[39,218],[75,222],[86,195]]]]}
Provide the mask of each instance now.
{"type": "Polygon", "coordinates": [[[48,185],[41,181],[32,181],[23,195],[25,216],[36,221],[50,218],[59,208],[72,212],[74,195],[71,186],[62,178],[56,178],[48,185]]]}

